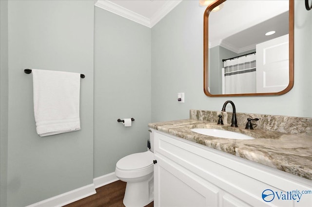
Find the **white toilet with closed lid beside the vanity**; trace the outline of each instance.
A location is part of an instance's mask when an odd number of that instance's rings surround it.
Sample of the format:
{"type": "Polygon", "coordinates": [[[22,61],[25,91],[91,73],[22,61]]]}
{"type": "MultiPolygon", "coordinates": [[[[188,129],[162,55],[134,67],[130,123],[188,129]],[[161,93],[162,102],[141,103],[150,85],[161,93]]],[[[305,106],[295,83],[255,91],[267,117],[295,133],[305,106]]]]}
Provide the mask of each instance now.
{"type": "Polygon", "coordinates": [[[151,151],[127,155],[118,160],[115,174],[127,182],[123,204],[144,207],[154,200],[154,154],[151,151]]]}

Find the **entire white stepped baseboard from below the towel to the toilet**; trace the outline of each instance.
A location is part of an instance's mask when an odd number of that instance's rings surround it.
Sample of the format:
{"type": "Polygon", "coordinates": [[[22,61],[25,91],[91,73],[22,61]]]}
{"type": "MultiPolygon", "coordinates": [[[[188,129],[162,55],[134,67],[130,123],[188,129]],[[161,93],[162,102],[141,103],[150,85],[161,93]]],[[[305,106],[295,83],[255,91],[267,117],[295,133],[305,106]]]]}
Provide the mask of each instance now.
{"type": "Polygon", "coordinates": [[[97,188],[113,183],[117,180],[119,179],[116,177],[115,172],[105,174],[105,175],[94,178],[93,184],[59,194],[57,196],[45,199],[43,201],[37,202],[27,207],[62,207],[67,204],[78,201],[82,198],[96,194],[97,188]]]}

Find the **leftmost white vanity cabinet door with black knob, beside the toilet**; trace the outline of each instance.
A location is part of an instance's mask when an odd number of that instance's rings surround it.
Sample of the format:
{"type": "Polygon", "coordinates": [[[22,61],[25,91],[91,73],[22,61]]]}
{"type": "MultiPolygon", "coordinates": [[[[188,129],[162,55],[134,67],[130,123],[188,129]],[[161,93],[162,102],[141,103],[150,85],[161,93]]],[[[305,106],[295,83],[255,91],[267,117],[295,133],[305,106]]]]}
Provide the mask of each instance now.
{"type": "Polygon", "coordinates": [[[216,207],[219,189],[162,155],[155,155],[155,207],[216,207]]]}

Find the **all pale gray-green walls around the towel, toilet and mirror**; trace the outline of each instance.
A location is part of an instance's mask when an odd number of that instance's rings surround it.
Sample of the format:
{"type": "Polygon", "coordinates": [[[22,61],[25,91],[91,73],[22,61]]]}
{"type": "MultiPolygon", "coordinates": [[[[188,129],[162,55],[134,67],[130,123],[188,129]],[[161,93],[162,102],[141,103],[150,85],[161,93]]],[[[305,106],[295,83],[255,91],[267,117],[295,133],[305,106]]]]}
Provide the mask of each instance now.
{"type": "Polygon", "coordinates": [[[231,99],[238,112],[312,117],[312,12],[304,1],[295,2],[293,89],[232,98],[203,93],[205,8],[197,1],[182,1],[152,29],[94,8],[91,0],[9,1],[8,8],[0,2],[1,207],[91,184],[114,172],[118,158],[146,150],[148,122],[185,119],[192,108],[220,110],[231,99]],[[86,75],[80,131],[36,134],[32,75],[25,68],[86,75]],[[177,92],[185,92],[184,104],[177,92]],[[136,119],[132,127],[117,122],[128,117],[136,119]]]}

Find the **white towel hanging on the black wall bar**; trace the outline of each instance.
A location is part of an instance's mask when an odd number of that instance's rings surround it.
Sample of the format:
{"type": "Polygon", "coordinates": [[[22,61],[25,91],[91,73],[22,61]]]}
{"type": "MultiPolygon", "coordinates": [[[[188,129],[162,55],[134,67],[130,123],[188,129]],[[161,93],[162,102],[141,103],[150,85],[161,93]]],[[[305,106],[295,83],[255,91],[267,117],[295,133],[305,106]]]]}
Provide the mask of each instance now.
{"type": "Polygon", "coordinates": [[[34,112],[40,137],[80,129],[80,74],[32,69],[34,112]]]}

